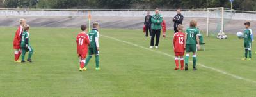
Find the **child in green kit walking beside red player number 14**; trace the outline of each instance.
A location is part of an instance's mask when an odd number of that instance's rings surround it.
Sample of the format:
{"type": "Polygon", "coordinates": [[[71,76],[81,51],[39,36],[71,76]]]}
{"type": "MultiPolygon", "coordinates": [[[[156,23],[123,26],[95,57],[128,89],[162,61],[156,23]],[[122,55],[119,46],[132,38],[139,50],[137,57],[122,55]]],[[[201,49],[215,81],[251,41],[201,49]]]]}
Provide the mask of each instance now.
{"type": "Polygon", "coordinates": [[[89,32],[89,38],[90,38],[90,47],[88,49],[88,57],[86,58],[85,67],[87,67],[90,59],[92,58],[92,55],[95,55],[95,63],[96,68],[95,70],[100,70],[99,67],[99,23],[93,23],[93,29],[89,32]]]}

